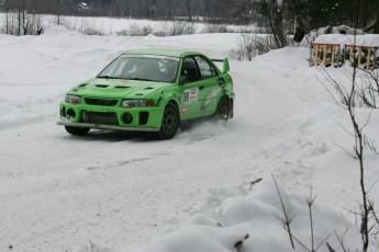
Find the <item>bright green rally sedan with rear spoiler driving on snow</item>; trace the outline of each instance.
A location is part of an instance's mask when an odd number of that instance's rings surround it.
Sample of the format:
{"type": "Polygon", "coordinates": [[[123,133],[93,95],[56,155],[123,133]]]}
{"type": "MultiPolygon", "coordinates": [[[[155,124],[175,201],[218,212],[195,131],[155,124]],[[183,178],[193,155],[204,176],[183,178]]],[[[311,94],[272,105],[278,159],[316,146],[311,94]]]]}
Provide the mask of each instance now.
{"type": "Polygon", "coordinates": [[[228,60],[213,61],[194,51],[129,50],[68,91],[57,124],[73,135],[99,128],[156,131],[170,139],[186,121],[232,118],[228,60]],[[223,71],[213,61],[223,61],[223,71]]]}

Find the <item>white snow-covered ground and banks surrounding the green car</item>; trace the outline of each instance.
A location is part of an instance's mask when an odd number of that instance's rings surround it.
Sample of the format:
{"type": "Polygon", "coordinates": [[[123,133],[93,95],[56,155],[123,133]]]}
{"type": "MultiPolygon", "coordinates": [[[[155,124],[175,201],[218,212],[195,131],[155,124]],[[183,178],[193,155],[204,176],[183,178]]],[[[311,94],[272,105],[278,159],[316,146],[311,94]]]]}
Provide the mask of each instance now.
{"type": "MultiPolygon", "coordinates": [[[[331,233],[341,251],[334,230],[350,227],[345,244],[359,248],[355,217],[344,210],[360,199],[358,162],[346,152],[354,141],[341,127],[350,129],[348,114],[326,91],[323,70],[309,67],[308,48],[232,60],[235,118],[226,126],[205,122],[158,141],[105,130],[74,137],[55,125],[65,92],[124,50],[221,58],[237,42],[237,34],[102,37],[59,26],[0,35],[0,251],[234,251],[242,240],[241,251],[292,251],[271,174],[298,239],[310,247],[304,198],[313,187],[315,243],[331,233]]],[[[348,82],[348,67],[327,71],[348,82]]],[[[379,142],[379,113],[370,116],[366,130],[379,142]]],[[[378,161],[367,152],[368,185],[378,161]]]]}

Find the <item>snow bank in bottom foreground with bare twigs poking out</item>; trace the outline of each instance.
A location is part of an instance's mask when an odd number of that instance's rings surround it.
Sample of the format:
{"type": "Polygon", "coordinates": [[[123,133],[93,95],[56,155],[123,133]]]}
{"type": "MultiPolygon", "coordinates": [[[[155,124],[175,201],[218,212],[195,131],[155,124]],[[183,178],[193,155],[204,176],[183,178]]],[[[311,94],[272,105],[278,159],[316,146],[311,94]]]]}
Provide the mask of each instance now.
{"type": "MultiPolygon", "coordinates": [[[[242,243],[242,250],[246,252],[291,252],[289,237],[283,229],[281,220],[283,213],[274,182],[266,181],[254,185],[253,192],[248,186],[239,186],[238,196],[235,188],[213,190],[208,197],[220,204],[204,204],[201,211],[216,214],[197,214],[181,228],[154,238],[148,245],[138,252],[209,252],[209,251],[236,251],[236,244],[242,243]],[[227,195],[235,196],[228,197],[227,195]]],[[[291,229],[293,236],[311,248],[310,219],[305,196],[309,192],[302,192],[302,196],[287,194],[281,191],[286,209],[293,221],[291,229]]],[[[357,228],[346,221],[337,213],[313,206],[314,241],[319,245],[323,239],[335,249],[339,249],[334,232],[343,234],[346,228],[349,231],[345,236],[345,245],[352,251],[359,248],[359,232],[357,228]]],[[[297,251],[306,251],[296,242],[297,251]]],[[[328,251],[326,244],[322,244],[319,251],[328,251]]]]}

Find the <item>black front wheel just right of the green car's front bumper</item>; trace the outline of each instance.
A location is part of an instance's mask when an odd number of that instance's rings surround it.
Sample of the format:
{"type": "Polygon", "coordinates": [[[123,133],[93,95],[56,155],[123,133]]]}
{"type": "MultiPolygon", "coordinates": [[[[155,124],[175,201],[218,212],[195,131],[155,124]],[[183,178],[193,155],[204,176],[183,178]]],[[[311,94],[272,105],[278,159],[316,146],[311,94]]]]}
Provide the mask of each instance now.
{"type": "Polygon", "coordinates": [[[161,140],[168,140],[175,137],[179,128],[179,112],[176,105],[168,103],[161,117],[161,126],[158,137],[161,140]]]}

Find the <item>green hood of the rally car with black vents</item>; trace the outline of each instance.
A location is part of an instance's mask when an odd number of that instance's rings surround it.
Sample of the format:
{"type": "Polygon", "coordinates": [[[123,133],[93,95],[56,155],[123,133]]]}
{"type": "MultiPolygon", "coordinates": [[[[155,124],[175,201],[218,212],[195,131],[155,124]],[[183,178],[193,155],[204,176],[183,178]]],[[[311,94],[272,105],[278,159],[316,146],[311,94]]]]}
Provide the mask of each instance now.
{"type": "Polygon", "coordinates": [[[70,94],[89,98],[142,99],[172,83],[96,78],[69,91],[70,94]]]}

